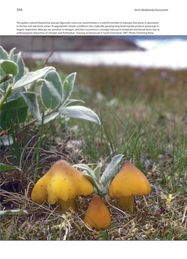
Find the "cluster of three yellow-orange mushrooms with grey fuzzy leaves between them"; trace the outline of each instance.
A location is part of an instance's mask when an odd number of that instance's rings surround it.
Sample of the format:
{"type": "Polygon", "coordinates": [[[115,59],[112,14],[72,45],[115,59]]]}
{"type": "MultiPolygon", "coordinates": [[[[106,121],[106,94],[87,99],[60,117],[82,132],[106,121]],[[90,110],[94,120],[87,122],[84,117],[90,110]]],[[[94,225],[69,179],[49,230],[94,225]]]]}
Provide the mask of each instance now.
{"type": "Polygon", "coordinates": [[[101,164],[95,170],[85,164],[71,166],[65,160],[55,162],[50,170],[35,184],[31,199],[37,203],[60,204],[62,211],[73,208],[78,211],[77,197],[95,192],[85,213],[85,223],[97,230],[110,226],[111,216],[102,196],[108,194],[119,198],[118,206],[134,211],[134,196],[149,194],[151,186],[146,176],[129,161],[122,164],[116,176],[117,166],[123,155],[117,155],[100,177],[101,164]],[[83,169],[83,173],[75,169],[83,169]]]}

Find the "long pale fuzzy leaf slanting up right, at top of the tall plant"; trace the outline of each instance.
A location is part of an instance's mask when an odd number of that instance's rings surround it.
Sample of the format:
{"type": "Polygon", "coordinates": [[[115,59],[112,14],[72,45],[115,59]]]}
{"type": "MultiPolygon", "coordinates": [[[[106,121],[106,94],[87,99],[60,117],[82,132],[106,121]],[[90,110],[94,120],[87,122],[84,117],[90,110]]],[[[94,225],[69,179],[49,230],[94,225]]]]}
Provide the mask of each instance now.
{"type": "Polygon", "coordinates": [[[15,85],[14,89],[20,88],[23,85],[28,85],[30,83],[33,83],[34,81],[43,78],[46,73],[48,73],[50,70],[55,70],[53,67],[46,67],[46,68],[41,68],[35,72],[29,72],[26,75],[24,75],[20,80],[18,80],[15,85]]]}

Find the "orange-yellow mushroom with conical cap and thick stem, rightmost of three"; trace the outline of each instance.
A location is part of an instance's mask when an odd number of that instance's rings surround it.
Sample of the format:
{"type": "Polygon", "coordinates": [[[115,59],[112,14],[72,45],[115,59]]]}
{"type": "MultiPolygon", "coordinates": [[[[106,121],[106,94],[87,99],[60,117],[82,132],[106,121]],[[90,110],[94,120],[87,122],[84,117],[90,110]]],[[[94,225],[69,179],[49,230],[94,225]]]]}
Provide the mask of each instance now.
{"type": "Polygon", "coordinates": [[[149,194],[151,186],[143,173],[129,161],[122,164],[122,169],[114,177],[109,188],[111,197],[119,197],[118,206],[123,210],[134,211],[134,195],[149,194]]]}

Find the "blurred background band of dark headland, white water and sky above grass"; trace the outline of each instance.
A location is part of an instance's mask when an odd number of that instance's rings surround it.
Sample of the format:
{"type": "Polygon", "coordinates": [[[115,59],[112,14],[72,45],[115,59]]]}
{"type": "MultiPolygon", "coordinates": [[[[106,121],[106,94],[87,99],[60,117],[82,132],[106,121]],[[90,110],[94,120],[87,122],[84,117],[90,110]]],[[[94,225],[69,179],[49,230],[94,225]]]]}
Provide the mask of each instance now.
{"type": "Polygon", "coordinates": [[[21,51],[23,60],[42,61],[51,54],[48,63],[62,65],[184,70],[187,69],[183,54],[187,48],[185,39],[187,36],[153,36],[152,40],[146,36],[134,36],[133,42],[124,36],[1,36],[1,43],[3,47],[6,45],[6,51],[16,47],[14,53],[21,51]]]}

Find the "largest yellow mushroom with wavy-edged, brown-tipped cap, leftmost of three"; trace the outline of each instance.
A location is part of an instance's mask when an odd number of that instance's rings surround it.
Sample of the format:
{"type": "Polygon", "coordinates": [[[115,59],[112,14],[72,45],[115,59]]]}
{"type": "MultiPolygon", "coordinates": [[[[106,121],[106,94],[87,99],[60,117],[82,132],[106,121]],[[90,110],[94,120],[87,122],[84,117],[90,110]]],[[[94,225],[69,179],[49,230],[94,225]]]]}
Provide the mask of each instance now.
{"type": "Polygon", "coordinates": [[[65,160],[59,160],[37,181],[31,199],[37,203],[46,200],[51,204],[59,202],[62,211],[70,207],[78,211],[77,196],[93,193],[93,186],[85,175],[65,160]]]}

